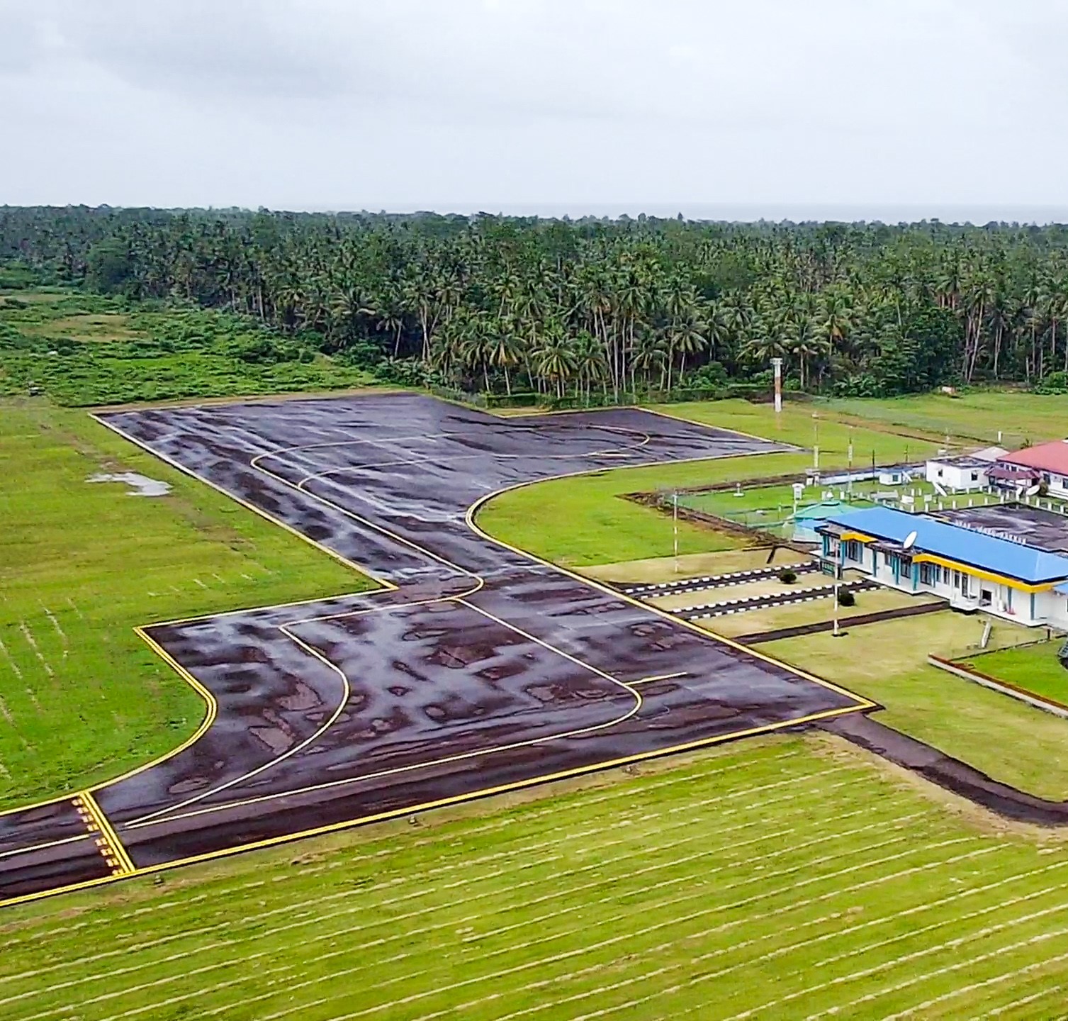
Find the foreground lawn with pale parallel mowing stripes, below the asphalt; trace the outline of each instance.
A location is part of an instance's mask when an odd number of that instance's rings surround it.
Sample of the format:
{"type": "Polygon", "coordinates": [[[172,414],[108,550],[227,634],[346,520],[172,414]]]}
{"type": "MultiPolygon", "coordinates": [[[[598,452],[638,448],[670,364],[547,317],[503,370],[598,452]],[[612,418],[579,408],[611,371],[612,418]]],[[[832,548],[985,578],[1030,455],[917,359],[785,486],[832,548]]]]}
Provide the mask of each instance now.
{"type": "Polygon", "coordinates": [[[3,1017],[1059,1012],[1059,847],[838,748],[745,741],[9,909],[3,1017]]]}

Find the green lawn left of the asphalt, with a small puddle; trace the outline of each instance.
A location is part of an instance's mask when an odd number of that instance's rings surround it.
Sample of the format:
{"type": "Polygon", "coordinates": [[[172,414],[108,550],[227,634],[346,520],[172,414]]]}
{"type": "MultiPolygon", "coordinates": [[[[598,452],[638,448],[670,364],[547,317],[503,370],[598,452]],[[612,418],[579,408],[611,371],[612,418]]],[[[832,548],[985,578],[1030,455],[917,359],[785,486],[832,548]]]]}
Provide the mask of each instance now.
{"type": "Polygon", "coordinates": [[[200,697],[134,626],[371,583],[87,414],[0,399],[0,805],[168,751],[200,697]],[[131,470],[166,497],[89,484],[131,470]]]}

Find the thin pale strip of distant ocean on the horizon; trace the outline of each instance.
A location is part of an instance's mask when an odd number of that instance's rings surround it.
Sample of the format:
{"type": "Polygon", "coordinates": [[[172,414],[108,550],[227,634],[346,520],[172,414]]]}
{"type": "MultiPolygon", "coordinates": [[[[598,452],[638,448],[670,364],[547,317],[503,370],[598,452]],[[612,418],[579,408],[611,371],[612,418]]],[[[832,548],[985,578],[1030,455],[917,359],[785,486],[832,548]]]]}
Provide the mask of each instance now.
{"type": "Polygon", "coordinates": [[[1004,204],[908,204],[908,203],[708,203],[708,202],[487,202],[466,203],[349,203],[335,205],[304,206],[305,209],[317,211],[354,211],[365,209],[377,213],[417,213],[434,211],[440,214],[472,215],[475,213],[504,214],[507,216],[540,216],[569,217],[579,220],[582,217],[621,216],[638,217],[645,214],[649,217],[676,217],[679,214],[687,220],[719,220],[751,223],[758,220],[781,222],[791,220],[795,223],[806,221],[832,221],[842,223],[880,222],[880,223],[917,223],[922,220],[940,220],[942,223],[1068,223],[1068,204],[1065,205],[1027,205],[1022,203],[1004,204]]]}

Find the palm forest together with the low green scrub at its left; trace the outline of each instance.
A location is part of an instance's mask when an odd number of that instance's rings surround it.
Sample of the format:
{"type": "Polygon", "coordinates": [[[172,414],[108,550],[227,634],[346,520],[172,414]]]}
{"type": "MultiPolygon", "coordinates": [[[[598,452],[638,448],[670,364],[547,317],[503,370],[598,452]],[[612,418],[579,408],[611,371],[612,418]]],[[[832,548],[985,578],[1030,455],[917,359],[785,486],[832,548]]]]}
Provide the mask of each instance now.
{"type": "Polygon", "coordinates": [[[1068,391],[1068,229],[0,207],[0,393],[1068,391]],[[103,343],[106,342],[106,343],[103,343]]]}

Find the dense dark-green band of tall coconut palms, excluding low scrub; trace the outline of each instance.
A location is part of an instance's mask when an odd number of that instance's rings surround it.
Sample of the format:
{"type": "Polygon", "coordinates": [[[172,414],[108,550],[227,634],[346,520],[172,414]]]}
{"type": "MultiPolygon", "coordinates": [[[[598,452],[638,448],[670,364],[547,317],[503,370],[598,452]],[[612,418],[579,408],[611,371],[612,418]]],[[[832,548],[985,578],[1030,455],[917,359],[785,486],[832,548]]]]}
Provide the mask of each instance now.
{"type": "Polygon", "coordinates": [[[845,394],[1068,372],[1062,226],[4,207],[0,257],[487,392],[692,392],[773,357],[845,394]]]}

